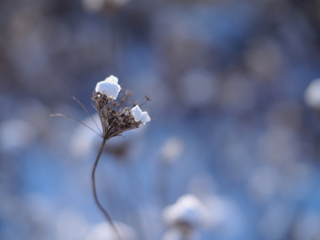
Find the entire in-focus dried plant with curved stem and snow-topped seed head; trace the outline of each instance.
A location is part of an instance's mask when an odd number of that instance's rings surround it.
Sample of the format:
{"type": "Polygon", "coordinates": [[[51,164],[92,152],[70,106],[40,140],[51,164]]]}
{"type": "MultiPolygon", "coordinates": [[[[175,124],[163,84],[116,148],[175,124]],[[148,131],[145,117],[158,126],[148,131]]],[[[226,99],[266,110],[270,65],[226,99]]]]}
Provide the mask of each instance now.
{"type": "MultiPolygon", "coordinates": [[[[108,212],[103,208],[100,204],[97,191],[96,191],[96,184],[95,184],[95,171],[98,165],[102,150],[106,143],[106,140],[114,137],[114,136],[121,136],[122,132],[125,132],[130,129],[139,128],[140,124],[149,122],[151,119],[147,112],[142,112],[139,106],[135,106],[131,110],[129,108],[123,108],[124,102],[128,100],[131,96],[130,91],[125,92],[125,97],[121,97],[119,101],[115,101],[119,92],[121,90],[120,85],[118,84],[118,78],[110,75],[104,81],[97,83],[95,92],[93,92],[92,100],[94,101],[95,108],[98,111],[100,116],[100,121],[102,124],[102,131],[100,130],[101,134],[98,133],[101,137],[103,137],[103,142],[101,144],[98,156],[94,163],[92,169],[92,188],[93,188],[93,195],[96,201],[96,204],[100,208],[100,210],[104,213],[105,217],[109,221],[111,227],[114,229],[117,239],[122,240],[119,232],[116,229],[111,217],[109,216],[108,212]],[[131,113],[132,112],[132,113],[131,113]]],[[[146,97],[146,101],[150,101],[148,97],[146,97]]],[[[78,100],[76,100],[78,101],[78,100]]],[[[90,115],[88,110],[78,101],[78,103],[85,109],[85,111],[90,115]]],[[[144,103],[142,103],[144,104],[144,103]]],[[[140,106],[142,106],[142,104],[140,106]]],[[[63,114],[53,114],[51,116],[66,116],[63,114]]],[[[91,115],[90,115],[91,116],[91,115]]],[[[84,124],[72,117],[66,116],[84,124]]],[[[92,116],[91,116],[92,117],[92,116]]],[[[92,120],[94,121],[93,117],[92,120]]],[[[95,122],[95,121],[94,121],[95,122]]],[[[95,122],[96,123],[96,122],[95,122]]],[[[85,125],[85,124],[84,124],[85,125]]],[[[98,124],[96,123],[98,126],[98,124]]],[[[87,125],[86,125],[87,126],[87,125]]],[[[89,126],[87,126],[89,127],[89,126]]],[[[90,128],[90,127],[89,127],[90,128]]],[[[92,129],[92,128],[90,128],[92,129]]],[[[93,130],[93,129],[92,129],[93,130]]],[[[95,130],[93,130],[96,132],[95,130]]]]}

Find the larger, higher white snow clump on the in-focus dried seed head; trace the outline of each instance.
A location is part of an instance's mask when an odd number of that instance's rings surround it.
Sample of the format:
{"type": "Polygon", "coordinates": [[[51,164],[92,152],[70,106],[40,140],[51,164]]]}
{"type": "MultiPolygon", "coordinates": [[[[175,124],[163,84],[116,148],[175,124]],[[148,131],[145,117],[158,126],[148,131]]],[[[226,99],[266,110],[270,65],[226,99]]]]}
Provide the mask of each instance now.
{"type": "Polygon", "coordinates": [[[120,85],[118,84],[118,78],[110,75],[104,81],[97,83],[95,91],[96,92],[103,92],[108,97],[112,99],[116,99],[118,93],[120,92],[120,85]]]}

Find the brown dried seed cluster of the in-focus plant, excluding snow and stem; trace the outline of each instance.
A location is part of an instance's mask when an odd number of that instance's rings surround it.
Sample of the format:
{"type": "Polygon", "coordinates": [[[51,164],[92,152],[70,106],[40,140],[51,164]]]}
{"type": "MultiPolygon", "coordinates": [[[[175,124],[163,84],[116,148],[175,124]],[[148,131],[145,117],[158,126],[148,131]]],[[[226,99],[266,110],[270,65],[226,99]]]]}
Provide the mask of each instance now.
{"type": "Polygon", "coordinates": [[[116,102],[102,92],[93,92],[92,100],[100,116],[104,139],[121,136],[124,131],[139,128],[142,121],[136,121],[129,108],[123,109],[124,102],[130,96],[130,91],[127,91],[125,97],[116,102]]]}

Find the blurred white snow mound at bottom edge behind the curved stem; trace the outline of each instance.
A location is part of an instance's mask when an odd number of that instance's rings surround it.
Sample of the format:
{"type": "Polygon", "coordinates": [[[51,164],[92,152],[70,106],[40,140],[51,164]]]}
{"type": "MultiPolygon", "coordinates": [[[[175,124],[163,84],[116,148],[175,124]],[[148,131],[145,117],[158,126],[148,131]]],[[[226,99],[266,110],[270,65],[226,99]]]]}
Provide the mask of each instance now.
{"type": "MultiPolygon", "coordinates": [[[[137,240],[136,231],[121,222],[114,222],[116,229],[124,240],[137,240]]],[[[94,226],[84,240],[117,240],[117,236],[108,222],[102,222],[94,226]]]]}

